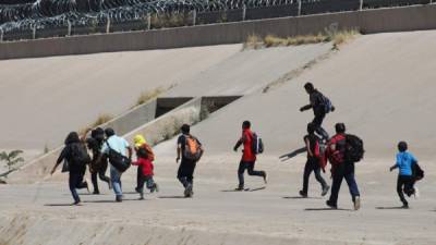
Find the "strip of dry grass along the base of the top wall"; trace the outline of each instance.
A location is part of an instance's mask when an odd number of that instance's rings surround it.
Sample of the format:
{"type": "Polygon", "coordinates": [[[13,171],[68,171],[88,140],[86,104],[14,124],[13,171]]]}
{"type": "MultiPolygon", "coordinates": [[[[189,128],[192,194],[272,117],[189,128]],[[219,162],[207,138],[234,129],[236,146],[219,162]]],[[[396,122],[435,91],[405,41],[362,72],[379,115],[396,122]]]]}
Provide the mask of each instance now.
{"type": "Polygon", "coordinates": [[[339,32],[326,30],[324,34],[319,33],[318,35],[304,35],[304,36],[294,36],[287,38],[277,37],[274,35],[268,35],[265,38],[261,38],[259,36],[256,35],[250,35],[246,41],[244,42],[244,49],[312,45],[312,44],[320,44],[329,41],[332,42],[334,49],[337,49],[338,46],[348,42],[349,40],[355,38],[358,35],[359,32],[356,29],[339,30],[339,32]]]}

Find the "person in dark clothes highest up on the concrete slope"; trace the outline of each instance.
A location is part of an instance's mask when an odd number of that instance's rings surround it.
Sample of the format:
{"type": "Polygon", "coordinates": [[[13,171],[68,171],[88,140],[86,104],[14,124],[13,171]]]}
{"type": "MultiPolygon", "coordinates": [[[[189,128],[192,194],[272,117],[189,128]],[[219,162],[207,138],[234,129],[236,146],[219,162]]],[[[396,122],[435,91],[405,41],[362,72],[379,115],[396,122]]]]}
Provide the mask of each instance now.
{"type": "Polygon", "coordinates": [[[324,140],[328,140],[328,133],[323,128],[323,121],[326,118],[326,113],[335,111],[335,107],[330,100],[318,91],[312,83],[306,83],[304,89],[310,95],[311,103],[300,108],[300,111],[306,111],[312,109],[315,118],[312,123],[315,125],[315,132],[323,137],[324,140]]]}

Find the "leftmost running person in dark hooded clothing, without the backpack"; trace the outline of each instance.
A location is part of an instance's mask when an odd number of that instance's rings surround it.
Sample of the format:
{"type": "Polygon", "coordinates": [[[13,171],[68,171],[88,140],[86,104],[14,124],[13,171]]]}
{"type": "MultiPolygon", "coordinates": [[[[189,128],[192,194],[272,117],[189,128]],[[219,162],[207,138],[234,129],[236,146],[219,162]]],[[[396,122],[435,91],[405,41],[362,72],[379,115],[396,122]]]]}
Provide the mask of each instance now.
{"type": "MultiPolygon", "coordinates": [[[[82,145],[83,143],[78,138],[78,134],[76,132],[71,132],[65,138],[65,147],[62,149],[53,169],[51,170],[51,174],[55,173],[58,166],[66,160],[69,164],[69,186],[71,194],[74,198],[73,205],[78,205],[81,203],[81,198],[78,197],[76,188],[88,188],[88,183],[83,181],[83,177],[86,172],[86,163],[84,162],[74,162],[72,159],[72,148],[76,147],[76,145],[82,145]]],[[[84,147],[84,146],[83,146],[84,147]]]]}

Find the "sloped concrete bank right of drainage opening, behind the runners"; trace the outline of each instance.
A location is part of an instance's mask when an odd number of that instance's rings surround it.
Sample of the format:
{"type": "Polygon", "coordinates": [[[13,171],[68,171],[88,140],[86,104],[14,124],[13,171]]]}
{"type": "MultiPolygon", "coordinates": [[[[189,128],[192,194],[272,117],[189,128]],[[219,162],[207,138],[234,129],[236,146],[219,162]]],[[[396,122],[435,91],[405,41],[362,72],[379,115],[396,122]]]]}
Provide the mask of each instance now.
{"type": "MultiPolygon", "coordinates": [[[[325,127],[344,122],[349,132],[365,140],[368,158],[392,158],[396,144],[408,140],[421,158],[434,155],[436,140],[436,32],[362,36],[301,76],[235,101],[194,128],[208,152],[232,149],[241,122],[251,120],[264,137],[267,154],[290,152],[303,145],[312,112],[303,84],[313,82],[328,95],[337,111],[328,114],[325,127]]],[[[161,152],[167,146],[160,146],[161,152]]]]}

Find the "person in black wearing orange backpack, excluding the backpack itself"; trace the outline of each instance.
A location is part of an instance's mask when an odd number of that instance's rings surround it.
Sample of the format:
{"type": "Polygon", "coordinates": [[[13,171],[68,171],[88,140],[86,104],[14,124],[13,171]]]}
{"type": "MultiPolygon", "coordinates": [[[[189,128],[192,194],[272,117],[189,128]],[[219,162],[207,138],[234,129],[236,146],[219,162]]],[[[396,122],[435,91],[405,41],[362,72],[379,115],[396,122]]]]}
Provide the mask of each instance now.
{"type": "Polygon", "coordinates": [[[197,138],[193,137],[190,134],[190,130],[191,130],[191,127],[187,124],[183,124],[181,127],[182,135],[180,135],[178,138],[177,159],[175,159],[175,162],[179,162],[180,159],[182,160],[180,162],[179,170],[178,170],[178,179],[184,187],[184,196],[185,197],[192,197],[192,195],[194,194],[193,180],[194,180],[195,166],[197,163],[196,160],[191,160],[185,157],[184,152],[185,152],[185,148],[186,148],[186,140],[189,137],[196,140],[196,143],[201,147],[199,150],[202,151],[202,155],[203,155],[202,144],[199,143],[199,140],[197,138]]]}

